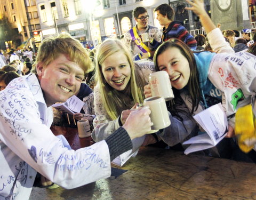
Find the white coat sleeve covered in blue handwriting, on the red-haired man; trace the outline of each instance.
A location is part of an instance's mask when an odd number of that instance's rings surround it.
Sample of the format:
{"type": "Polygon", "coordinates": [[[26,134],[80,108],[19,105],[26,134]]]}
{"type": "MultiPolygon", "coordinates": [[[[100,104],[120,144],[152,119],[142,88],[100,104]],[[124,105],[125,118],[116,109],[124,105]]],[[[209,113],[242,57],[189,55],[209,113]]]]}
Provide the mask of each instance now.
{"type": "MultiPolygon", "coordinates": [[[[46,105],[35,101],[28,85],[7,87],[0,92],[0,140],[36,171],[62,187],[74,188],[109,177],[110,156],[105,141],[68,150],[42,123],[45,115],[46,105]]],[[[15,169],[17,163],[12,160],[9,165],[13,166],[6,167],[15,169]]],[[[13,176],[16,175],[14,172],[13,176]]]]}

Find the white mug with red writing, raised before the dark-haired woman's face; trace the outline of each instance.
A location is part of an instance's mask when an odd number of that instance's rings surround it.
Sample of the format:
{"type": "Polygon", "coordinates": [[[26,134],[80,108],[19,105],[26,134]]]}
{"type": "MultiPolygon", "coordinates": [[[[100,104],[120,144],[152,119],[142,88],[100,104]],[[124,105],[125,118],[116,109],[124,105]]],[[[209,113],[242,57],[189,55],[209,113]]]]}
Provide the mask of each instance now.
{"type": "Polygon", "coordinates": [[[166,71],[156,71],[148,77],[152,96],[161,96],[165,101],[174,98],[172,85],[166,71]]]}

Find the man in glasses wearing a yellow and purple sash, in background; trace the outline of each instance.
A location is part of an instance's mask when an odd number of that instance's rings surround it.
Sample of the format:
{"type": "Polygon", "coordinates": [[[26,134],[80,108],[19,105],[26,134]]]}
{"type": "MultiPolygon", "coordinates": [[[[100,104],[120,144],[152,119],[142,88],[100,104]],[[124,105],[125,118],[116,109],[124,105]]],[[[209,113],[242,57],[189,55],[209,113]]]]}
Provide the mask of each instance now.
{"type": "Polygon", "coordinates": [[[152,58],[155,51],[150,41],[154,39],[161,42],[162,32],[157,27],[148,25],[149,15],[145,7],[136,7],[132,13],[137,24],[124,34],[123,41],[131,46],[134,55],[139,55],[139,58],[136,57],[135,60],[152,58]],[[148,33],[149,40],[147,42],[142,42],[141,35],[143,33],[148,33]]]}

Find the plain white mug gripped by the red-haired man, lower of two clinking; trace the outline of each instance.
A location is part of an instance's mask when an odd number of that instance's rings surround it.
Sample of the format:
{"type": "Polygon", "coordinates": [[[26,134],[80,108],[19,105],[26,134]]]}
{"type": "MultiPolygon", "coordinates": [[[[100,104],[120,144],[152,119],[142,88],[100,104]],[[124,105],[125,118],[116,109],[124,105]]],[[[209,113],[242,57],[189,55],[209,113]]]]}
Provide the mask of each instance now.
{"type": "Polygon", "coordinates": [[[151,110],[150,119],[153,122],[152,130],[164,129],[171,125],[166,103],[163,97],[149,97],[143,101],[144,106],[151,110]]]}

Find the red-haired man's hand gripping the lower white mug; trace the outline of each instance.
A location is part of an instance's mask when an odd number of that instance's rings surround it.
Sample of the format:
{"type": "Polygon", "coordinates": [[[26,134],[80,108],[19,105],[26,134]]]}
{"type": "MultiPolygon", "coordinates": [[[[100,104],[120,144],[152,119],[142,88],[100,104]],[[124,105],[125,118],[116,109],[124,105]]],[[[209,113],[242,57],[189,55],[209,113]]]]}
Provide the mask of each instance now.
{"type": "Polygon", "coordinates": [[[147,107],[131,111],[123,125],[131,139],[141,137],[151,130],[153,123],[149,117],[150,113],[147,107]]]}

